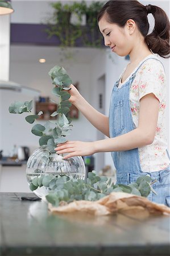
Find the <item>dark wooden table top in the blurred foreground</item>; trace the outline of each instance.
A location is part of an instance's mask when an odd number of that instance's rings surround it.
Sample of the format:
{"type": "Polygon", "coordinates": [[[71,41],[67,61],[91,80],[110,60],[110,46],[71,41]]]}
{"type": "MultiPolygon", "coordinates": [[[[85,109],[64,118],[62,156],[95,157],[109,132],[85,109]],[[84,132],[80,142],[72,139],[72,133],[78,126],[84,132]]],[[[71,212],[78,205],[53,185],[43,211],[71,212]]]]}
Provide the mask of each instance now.
{"type": "Polygon", "coordinates": [[[169,217],[52,215],[26,193],[0,193],[0,255],[169,255],[169,217]]]}

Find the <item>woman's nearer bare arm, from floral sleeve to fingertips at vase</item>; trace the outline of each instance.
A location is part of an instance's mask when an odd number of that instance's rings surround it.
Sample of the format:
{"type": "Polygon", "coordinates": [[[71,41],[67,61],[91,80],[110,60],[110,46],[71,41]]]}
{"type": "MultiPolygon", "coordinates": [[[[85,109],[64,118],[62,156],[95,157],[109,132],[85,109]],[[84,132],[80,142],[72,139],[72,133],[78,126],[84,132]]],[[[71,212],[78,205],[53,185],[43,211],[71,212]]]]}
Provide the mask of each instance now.
{"type": "Polygon", "coordinates": [[[57,154],[69,153],[64,159],[76,155],[91,155],[96,152],[125,151],[143,147],[154,141],[159,100],[153,93],[140,100],[138,127],[115,138],[95,142],[66,142],[56,147],[57,154]]]}

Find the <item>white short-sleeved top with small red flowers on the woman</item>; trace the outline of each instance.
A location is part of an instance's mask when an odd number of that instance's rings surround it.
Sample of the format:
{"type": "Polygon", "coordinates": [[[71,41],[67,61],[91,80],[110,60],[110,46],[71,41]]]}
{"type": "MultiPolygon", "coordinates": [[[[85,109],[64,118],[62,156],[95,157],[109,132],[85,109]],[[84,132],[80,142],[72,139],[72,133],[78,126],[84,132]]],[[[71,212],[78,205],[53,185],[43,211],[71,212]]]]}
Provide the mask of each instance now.
{"type": "MultiPolygon", "coordinates": [[[[132,120],[135,127],[138,127],[140,99],[149,93],[154,93],[155,97],[160,102],[154,142],[138,148],[142,171],[154,172],[164,170],[169,166],[169,158],[166,151],[166,79],[163,65],[160,61],[157,61],[159,60],[157,55],[148,55],[144,60],[139,63],[138,67],[142,64],[139,69],[136,67],[138,71],[136,72],[136,76],[132,81],[130,88],[130,107],[132,120]],[[150,59],[151,57],[154,59],[150,59]],[[142,64],[144,60],[147,61],[142,64]]],[[[134,73],[136,69],[132,73],[134,73]]],[[[131,76],[130,75],[123,83],[121,83],[122,74],[119,77],[120,82],[118,88],[125,84],[131,76]]]]}

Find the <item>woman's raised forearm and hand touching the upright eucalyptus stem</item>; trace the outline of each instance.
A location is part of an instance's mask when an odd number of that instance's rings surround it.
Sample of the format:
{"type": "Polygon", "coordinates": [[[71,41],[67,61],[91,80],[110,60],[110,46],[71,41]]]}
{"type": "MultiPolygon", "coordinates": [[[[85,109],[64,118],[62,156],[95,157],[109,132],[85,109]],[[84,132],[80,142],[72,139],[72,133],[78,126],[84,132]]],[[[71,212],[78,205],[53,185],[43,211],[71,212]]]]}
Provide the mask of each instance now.
{"type": "Polygon", "coordinates": [[[71,85],[71,90],[68,92],[71,94],[69,101],[80,110],[96,129],[109,137],[109,118],[94,109],[73,85],[71,85]]]}

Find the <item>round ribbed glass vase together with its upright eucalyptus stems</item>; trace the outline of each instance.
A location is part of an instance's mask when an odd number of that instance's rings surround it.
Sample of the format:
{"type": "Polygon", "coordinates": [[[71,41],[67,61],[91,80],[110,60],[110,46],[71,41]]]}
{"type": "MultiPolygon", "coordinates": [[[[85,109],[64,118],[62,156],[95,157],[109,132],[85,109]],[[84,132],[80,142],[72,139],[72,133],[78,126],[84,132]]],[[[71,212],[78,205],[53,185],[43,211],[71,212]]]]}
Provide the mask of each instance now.
{"type": "Polygon", "coordinates": [[[86,178],[85,165],[81,156],[63,160],[62,155],[57,155],[55,151],[57,143],[66,142],[67,135],[72,130],[72,119],[67,117],[71,108],[68,90],[72,80],[65,69],[59,66],[53,67],[49,71],[49,76],[51,76],[52,84],[55,85],[52,93],[59,98],[59,107],[51,114],[52,117],[56,117],[55,120],[47,121],[45,125],[38,123],[37,119],[43,112],[40,111],[36,115],[32,113],[32,101],[14,102],[9,107],[10,113],[28,113],[26,121],[31,124],[36,122],[31,131],[40,137],[40,147],[28,159],[26,174],[30,189],[39,197],[55,189],[55,179],[59,177],[64,180],[75,177],[76,179],[86,178]],[[53,181],[50,187],[47,186],[49,181],[53,181]]]}

